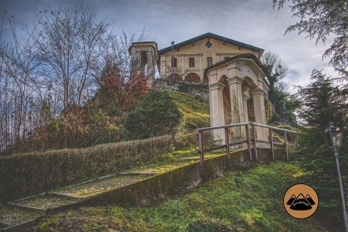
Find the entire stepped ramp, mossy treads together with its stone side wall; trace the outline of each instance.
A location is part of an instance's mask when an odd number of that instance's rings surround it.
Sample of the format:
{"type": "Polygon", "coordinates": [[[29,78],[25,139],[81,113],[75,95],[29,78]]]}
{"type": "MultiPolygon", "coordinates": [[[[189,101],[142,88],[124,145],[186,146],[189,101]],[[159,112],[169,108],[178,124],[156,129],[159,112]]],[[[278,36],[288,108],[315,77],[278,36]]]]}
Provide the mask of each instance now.
{"type": "MultiPolygon", "coordinates": [[[[274,160],[270,149],[260,149],[258,154],[258,160],[250,160],[246,149],[232,151],[230,167],[226,154],[207,154],[204,176],[200,172],[198,157],[178,158],[170,164],[129,169],[10,201],[0,205],[0,231],[27,231],[28,226],[37,223],[45,215],[68,208],[101,204],[151,206],[167,197],[196,188],[200,183],[223,176],[224,172],[274,160]]],[[[277,154],[275,160],[287,160],[283,150],[278,150],[277,154]]]]}

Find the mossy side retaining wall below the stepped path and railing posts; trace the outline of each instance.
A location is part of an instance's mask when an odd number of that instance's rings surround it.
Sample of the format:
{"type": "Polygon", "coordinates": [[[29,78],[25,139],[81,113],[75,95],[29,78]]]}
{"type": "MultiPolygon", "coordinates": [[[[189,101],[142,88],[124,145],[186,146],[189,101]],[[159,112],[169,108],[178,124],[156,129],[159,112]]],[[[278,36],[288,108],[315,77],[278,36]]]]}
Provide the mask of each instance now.
{"type": "MultiPolygon", "coordinates": [[[[275,160],[286,160],[284,149],[276,149],[275,160]]],[[[258,149],[258,160],[250,161],[246,149],[230,154],[232,167],[228,168],[226,155],[205,160],[204,176],[200,176],[200,163],[178,167],[164,174],[150,176],[148,179],[132,183],[123,188],[93,195],[80,202],[84,205],[120,204],[131,206],[152,206],[161,201],[197,188],[201,183],[223,176],[227,172],[245,169],[259,163],[270,163],[270,149],[258,149]]]]}

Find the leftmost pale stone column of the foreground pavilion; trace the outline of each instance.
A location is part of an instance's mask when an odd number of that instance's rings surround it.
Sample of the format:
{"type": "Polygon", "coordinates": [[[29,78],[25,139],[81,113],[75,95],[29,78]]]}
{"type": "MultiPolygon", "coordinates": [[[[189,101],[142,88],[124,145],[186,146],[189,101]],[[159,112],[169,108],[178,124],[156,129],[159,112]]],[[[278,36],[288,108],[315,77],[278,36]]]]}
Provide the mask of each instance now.
{"type": "MultiPolygon", "coordinates": [[[[210,103],[210,124],[211,126],[223,126],[225,119],[223,116],[223,87],[225,85],[217,82],[209,85],[210,103]]],[[[214,130],[214,141],[224,144],[225,131],[223,129],[214,130]]]]}

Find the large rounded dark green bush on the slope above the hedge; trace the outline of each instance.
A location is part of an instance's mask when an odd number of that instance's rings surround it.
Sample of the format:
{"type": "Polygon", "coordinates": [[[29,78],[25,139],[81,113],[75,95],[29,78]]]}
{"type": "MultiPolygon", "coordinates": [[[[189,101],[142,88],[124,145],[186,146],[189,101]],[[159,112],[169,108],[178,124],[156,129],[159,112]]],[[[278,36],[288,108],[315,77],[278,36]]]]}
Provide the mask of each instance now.
{"type": "Polygon", "coordinates": [[[171,94],[164,90],[152,90],[139,107],[129,113],[125,122],[129,140],[174,134],[182,119],[171,94]]]}

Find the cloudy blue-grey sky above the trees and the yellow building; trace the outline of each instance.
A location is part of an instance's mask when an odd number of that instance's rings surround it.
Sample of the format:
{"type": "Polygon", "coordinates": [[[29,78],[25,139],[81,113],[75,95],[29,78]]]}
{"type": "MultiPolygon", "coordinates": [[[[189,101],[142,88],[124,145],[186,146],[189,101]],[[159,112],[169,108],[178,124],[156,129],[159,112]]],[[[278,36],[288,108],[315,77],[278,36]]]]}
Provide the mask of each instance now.
{"type": "MultiPolygon", "coordinates": [[[[60,1],[53,0],[0,0],[0,19],[13,15],[19,28],[32,26],[42,6],[50,4],[53,9],[60,1]]],[[[210,32],[232,40],[273,51],[289,67],[284,81],[289,83],[289,92],[295,93],[294,85],[310,83],[313,69],[323,69],[329,76],[338,76],[329,66],[329,58],[322,54],[329,48],[333,38],[326,44],[306,39],[306,35],[292,32],[284,35],[287,26],[295,24],[288,7],[273,9],[271,0],[70,0],[74,3],[96,5],[97,17],[109,16],[116,20],[114,34],[122,30],[141,34],[145,28],[147,41],[155,41],[158,49],[171,46],[190,38],[210,32]]],[[[2,26],[1,40],[9,40],[10,27],[6,20],[2,26]]]]}

